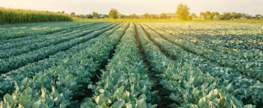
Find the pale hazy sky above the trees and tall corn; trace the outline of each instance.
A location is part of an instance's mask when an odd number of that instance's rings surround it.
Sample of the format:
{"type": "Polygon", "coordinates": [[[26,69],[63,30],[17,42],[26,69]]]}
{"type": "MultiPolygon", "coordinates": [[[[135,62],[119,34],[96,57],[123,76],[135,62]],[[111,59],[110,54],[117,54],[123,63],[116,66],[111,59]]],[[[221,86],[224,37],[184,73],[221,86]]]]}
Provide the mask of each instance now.
{"type": "Polygon", "coordinates": [[[124,15],[175,13],[180,4],[187,4],[190,13],[199,16],[200,12],[237,12],[252,16],[263,15],[263,0],[2,0],[0,7],[23,8],[76,15],[108,14],[111,8],[124,15]]]}

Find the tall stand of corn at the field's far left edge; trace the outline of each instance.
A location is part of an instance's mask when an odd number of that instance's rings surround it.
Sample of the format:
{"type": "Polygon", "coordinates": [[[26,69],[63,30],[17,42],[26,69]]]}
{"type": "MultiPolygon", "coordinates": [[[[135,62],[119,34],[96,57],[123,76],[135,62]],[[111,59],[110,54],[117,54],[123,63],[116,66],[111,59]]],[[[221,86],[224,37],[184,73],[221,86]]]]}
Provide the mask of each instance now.
{"type": "Polygon", "coordinates": [[[0,24],[73,21],[71,16],[54,12],[0,8],[0,24]]]}

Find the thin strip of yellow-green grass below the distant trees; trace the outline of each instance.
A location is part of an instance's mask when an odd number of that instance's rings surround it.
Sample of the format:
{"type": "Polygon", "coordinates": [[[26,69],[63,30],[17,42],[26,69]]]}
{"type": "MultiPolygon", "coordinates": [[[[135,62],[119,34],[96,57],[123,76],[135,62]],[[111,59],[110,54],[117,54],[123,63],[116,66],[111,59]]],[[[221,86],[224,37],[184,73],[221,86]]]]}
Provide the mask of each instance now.
{"type": "Polygon", "coordinates": [[[263,19],[235,19],[235,20],[205,20],[203,18],[193,18],[192,21],[182,21],[178,18],[171,19],[86,19],[73,17],[73,21],[109,21],[109,22],[245,22],[245,23],[263,23],[263,19]]]}

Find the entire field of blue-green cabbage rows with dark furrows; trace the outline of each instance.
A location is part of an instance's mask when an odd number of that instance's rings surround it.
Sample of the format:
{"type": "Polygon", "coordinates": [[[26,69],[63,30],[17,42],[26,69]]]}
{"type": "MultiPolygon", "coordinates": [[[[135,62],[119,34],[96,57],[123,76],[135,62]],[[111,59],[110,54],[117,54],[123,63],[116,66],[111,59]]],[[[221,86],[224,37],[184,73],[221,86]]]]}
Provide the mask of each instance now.
{"type": "Polygon", "coordinates": [[[263,108],[263,24],[0,25],[0,108],[263,108]]]}

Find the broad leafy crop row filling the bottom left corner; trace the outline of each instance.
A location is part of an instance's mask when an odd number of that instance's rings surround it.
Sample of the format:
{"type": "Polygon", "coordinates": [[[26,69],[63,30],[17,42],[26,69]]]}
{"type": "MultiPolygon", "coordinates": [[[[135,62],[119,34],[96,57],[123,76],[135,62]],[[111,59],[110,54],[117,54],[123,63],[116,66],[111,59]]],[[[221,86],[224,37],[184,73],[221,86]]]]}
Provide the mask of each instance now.
{"type": "Polygon", "coordinates": [[[116,35],[123,33],[127,26],[128,23],[117,29],[112,35],[98,39],[71,58],[64,58],[58,63],[58,66],[52,66],[44,72],[37,73],[33,79],[26,77],[20,85],[16,86],[12,94],[15,98],[6,94],[1,105],[5,107],[78,107],[80,101],[72,99],[85,95],[84,87],[92,84],[90,81],[90,78],[94,77],[92,73],[100,67],[100,61],[107,59],[114,48],[111,41],[118,38],[116,35]],[[112,38],[114,39],[111,40],[112,38]],[[106,46],[101,46],[101,42],[106,46]],[[109,46],[112,46],[112,49],[109,46]],[[95,52],[99,55],[93,54],[95,52]]]}

